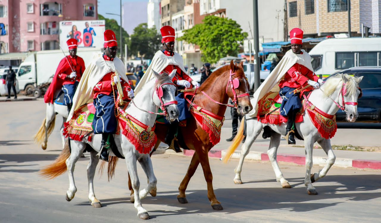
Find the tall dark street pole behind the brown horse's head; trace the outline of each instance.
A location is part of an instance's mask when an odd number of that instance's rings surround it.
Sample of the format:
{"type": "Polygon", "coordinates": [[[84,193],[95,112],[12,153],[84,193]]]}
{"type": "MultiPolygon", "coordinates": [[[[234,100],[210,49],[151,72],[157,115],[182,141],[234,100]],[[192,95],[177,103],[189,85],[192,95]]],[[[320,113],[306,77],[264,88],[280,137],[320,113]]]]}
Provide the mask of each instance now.
{"type": "Polygon", "coordinates": [[[253,34],[254,34],[254,91],[259,88],[261,78],[259,74],[259,31],[258,31],[258,0],[253,0],[253,34]]]}

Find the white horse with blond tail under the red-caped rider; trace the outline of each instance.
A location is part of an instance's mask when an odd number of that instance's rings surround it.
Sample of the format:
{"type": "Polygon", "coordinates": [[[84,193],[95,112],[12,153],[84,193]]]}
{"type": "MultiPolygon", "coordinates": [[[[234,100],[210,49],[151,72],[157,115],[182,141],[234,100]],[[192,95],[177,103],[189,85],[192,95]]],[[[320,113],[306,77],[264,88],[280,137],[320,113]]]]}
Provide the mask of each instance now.
{"type": "Polygon", "coordinates": [[[40,129],[38,129],[37,134],[34,135],[34,140],[36,143],[41,144],[41,148],[46,150],[48,137],[51,132],[53,132],[54,124],[56,121],[56,115],[62,116],[62,125],[61,125],[61,140],[62,140],[62,148],[65,146],[65,137],[64,137],[64,122],[67,119],[68,110],[66,105],[60,105],[53,103],[46,103],[46,117],[42,121],[40,129]]]}

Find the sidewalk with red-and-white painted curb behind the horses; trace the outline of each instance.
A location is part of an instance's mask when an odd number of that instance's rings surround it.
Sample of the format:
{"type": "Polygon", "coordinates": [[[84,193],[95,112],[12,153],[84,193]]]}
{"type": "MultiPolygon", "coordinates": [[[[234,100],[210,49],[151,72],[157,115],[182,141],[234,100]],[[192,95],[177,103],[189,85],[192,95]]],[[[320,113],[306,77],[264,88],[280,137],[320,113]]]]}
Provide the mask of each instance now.
{"type": "MultiPolygon", "coordinates": [[[[226,120],[226,122],[230,122],[226,120]]],[[[331,139],[332,145],[353,145],[359,147],[381,147],[381,141],[377,140],[381,135],[381,129],[338,129],[335,137],[331,139]]],[[[209,152],[209,157],[222,158],[225,156],[227,148],[231,145],[231,142],[226,142],[225,139],[231,137],[231,128],[224,127],[221,131],[221,141],[213,147],[209,152]]],[[[257,140],[250,147],[250,152],[245,159],[252,159],[258,161],[268,161],[267,150],[269,148],[269,139],[262,138],[262,132],[258,136],[257,140]]],[[[278,148],[277,160],[283,162],[293,162],[300,165],[305,165],[305,151],[304,143],[301,140],[296,140],[297,146],[291,147],[287,145],[285,139],[281,139],[280,146],[278,148]]],[[[315,144],[317,145],[317,143],[315,144]]],[[[232,155],[233,159],[240,158],[240,149],[242,144],[237,148],[232,155]]],[[[167,145],[162,143],[160,145],[161,150],[167,148],[167,145]]],[[[165,153],[174,153],[173,150],[162,151],[165,153]]],[[[333,150],[336,155],[336,161],[334,166],[339,167],[356,167],[356,168],[371,168],[381,169],[381,152],[367,152],[367,151],[350,151],[350,150],[333,150]]],[[[193,150],[184,150],[180,155],[192,156],[193,150]]],[[[313,151],[313,162],[316,165],[324,166],[327,159],[327,155],[324,150],[315,148],[313,151]]]]}

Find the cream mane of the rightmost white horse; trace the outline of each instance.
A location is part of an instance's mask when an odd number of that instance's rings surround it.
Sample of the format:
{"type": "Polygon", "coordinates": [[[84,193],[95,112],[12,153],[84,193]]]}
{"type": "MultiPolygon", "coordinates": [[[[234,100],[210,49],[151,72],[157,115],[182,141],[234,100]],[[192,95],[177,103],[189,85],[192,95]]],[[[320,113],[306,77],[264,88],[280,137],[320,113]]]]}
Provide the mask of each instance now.
{"type": "Polygon", "coordinates": [[[335,76],[331,76],[330,78],[328,78],[328,80],[323,84],[323,92],[325,96],[330,96],[331,94],[333,94],[333,92],[336,91],[336,88],[338,86],[341,86],[343,84],[343,75],[348,79],[348,81],[346,82],[346,95],[355,94],[358,88],[359,77],[349,76],[346,73],[338,73],[335,76]]]}

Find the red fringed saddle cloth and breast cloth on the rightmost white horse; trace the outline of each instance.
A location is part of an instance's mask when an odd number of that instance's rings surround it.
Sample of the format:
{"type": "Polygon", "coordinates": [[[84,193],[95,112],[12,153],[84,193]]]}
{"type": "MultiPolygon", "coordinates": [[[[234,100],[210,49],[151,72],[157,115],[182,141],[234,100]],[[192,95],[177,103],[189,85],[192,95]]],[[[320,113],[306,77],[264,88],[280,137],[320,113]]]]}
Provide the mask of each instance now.
{"type": "MultiPolygon", "coordinates": [[[[304,112],[308,112],[311,122],[317,128],[320,135],[325,139],[332,138],[337,130],[336,115],[329,115],[322,110],[316,108],[309,102],[308,97],[304,96],[302,101],[303,107],[296,114],[295,123],[303,121],[304,112]]],[[[287,117],[280,115],[280,105],[282,99],[279,92],[268,92],[258,102],[257,119],[264,124],[277,124],[287,122],[287,117]]]]}

